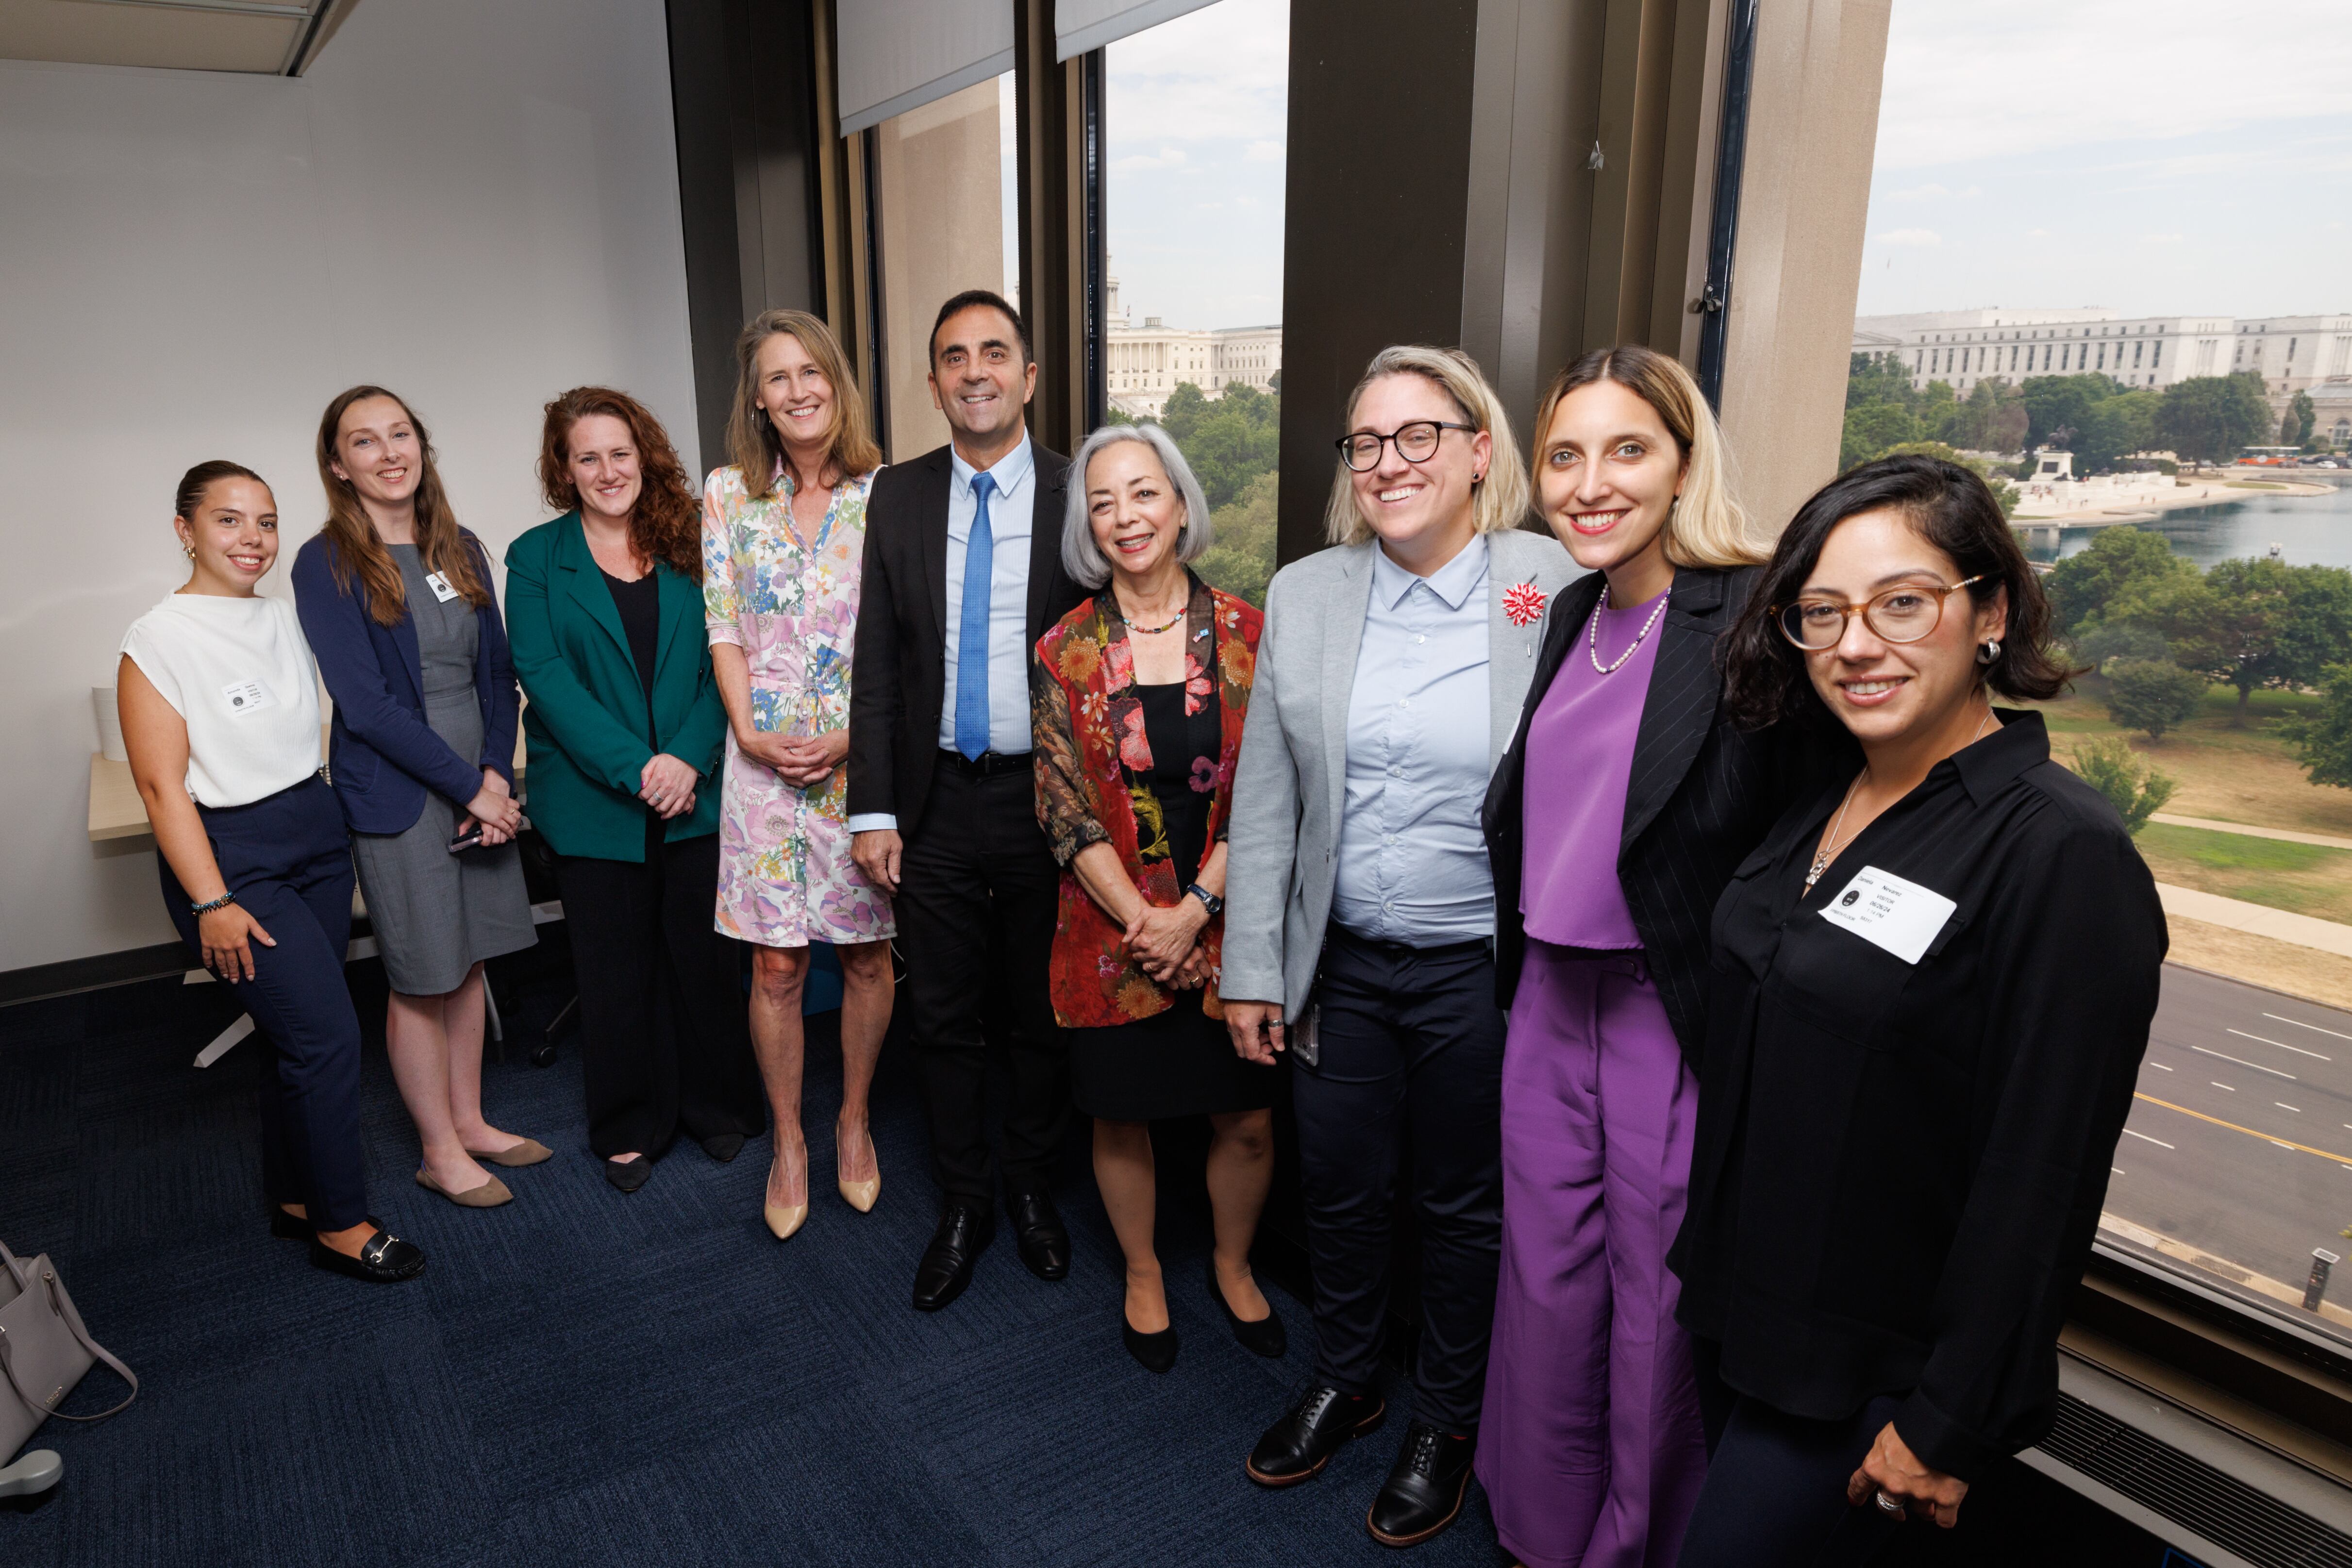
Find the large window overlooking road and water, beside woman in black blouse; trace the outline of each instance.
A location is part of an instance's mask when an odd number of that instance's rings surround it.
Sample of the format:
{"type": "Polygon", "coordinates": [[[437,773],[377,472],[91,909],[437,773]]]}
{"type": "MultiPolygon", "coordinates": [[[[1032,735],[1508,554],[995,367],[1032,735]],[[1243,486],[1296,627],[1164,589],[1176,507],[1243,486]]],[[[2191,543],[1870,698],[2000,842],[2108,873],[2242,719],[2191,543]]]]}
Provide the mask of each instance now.
{"type": "Polygon", "coordinates": [[[2352,1253],[2338,24],[1896,5],[1842,461],[1997,482],[2091,670],[2058,759],[2161,802],[2173,961],[2103,1248],[2352,1345],[2352,1279],[2314,1274],[2352,1253]]]}

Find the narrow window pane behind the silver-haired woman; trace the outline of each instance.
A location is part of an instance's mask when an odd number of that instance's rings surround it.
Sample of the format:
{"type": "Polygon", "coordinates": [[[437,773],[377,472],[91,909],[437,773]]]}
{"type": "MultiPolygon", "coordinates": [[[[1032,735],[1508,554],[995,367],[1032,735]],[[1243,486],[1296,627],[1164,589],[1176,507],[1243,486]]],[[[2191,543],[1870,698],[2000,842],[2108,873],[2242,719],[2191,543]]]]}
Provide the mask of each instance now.
{"type": "Polygon", "coordinates": [[[1223,0],[1105,49],[1103,381],[1209,496],[1200,571],[1263,602],[1282,421],[1287,0],[1223,0]]]}

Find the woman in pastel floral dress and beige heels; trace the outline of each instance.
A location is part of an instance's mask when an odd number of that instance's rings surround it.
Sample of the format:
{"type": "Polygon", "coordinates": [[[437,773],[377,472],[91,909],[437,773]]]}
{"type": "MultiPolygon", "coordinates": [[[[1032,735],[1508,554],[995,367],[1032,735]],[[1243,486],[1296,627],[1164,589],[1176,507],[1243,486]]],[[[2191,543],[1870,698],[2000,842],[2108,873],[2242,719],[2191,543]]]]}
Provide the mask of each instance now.
{"type": "Polygon", "coordinates": [[[753,943],[750,1037],[776,1147],[762,1213],[776,1239],[809,1218],[800,1131],[800,997],[809,943],[842,959],[842,1199],[882,1192],[866,1100],[889,1030],[889,896],[849,858],[849,651],[866,494],[882,451],[833,329],[767,310],[736,339],[734,461],[703,484],[703,628],[727,703],[717,929],[753,943]]]}

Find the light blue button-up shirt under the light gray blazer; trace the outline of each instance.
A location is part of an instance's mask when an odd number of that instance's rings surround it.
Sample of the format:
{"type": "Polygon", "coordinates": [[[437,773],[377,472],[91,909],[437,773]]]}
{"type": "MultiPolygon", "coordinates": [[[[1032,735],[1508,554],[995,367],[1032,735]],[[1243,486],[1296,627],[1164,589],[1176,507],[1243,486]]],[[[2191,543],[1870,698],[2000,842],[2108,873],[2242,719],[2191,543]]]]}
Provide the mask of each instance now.
{"type": "Polygon", "coordinates": [[[1442,947],[1494,936],[1479,802],[1491,750],[1486,536],[1414,576],[1371,552],[1371,607],[1348,696],[1348,809],[1331,919],[1442,947]]]}

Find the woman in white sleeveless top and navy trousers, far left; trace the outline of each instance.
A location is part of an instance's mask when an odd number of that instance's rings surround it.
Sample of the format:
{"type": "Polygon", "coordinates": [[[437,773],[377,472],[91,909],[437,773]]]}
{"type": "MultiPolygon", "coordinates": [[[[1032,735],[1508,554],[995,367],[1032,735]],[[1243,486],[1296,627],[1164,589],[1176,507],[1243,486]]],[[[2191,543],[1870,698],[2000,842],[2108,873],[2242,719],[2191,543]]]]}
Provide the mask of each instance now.
{"type": "Polygon", "coordinates": [[[350,842],[318,776],[318,665],[294,607],[256,592],[278,562],[278,501],[249,468],[198,463],[172,531],[191,571],[122,637],[122,743],[172,924],[270,1048],[270,1234],[308,1239],[310,1262],[336,1274],[416,1279],[426,1255],[367,1213],[360,1020],[343,987],[350,842]]]}

